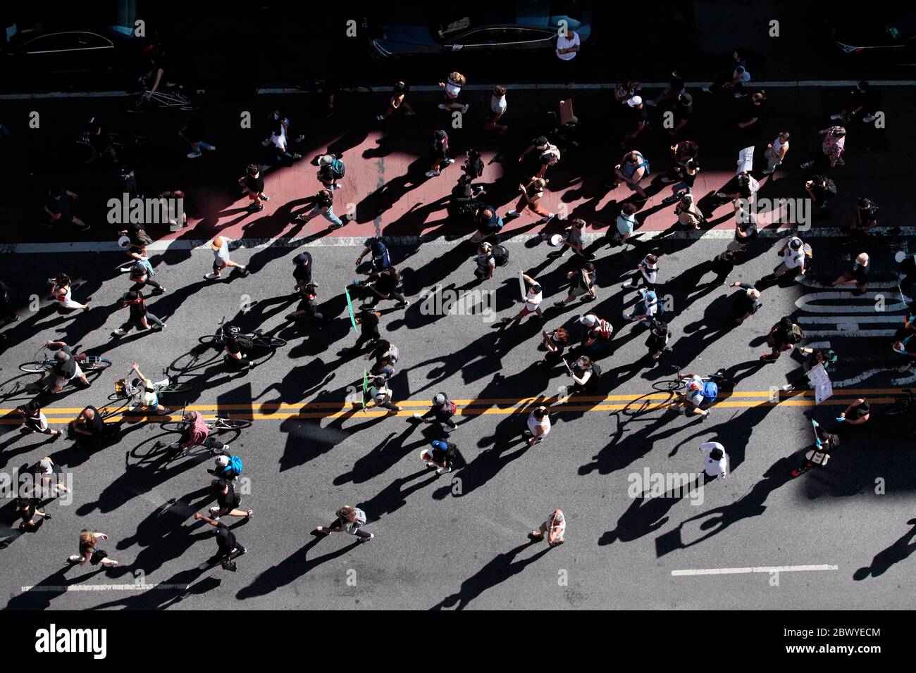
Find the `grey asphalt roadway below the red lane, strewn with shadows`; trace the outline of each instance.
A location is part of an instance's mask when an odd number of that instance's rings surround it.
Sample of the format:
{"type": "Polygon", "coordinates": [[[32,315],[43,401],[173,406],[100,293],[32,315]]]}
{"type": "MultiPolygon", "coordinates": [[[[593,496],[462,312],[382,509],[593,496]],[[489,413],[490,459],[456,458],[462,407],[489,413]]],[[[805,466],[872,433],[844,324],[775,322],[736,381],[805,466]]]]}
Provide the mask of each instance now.
{"type": "MultiPolygon", "coordinates": [[[[255,273],[216,282],[202,279],[209,251],[157,255],[157,278],[169,291],[150,309],[168,327],[117,341],[109,333],[122,320],[113,308],[126,287],[115,270],[121,254],[3,255],[5,277],[22,278],[23,291],[42,296],[46,288],[37,279],[66,267],[81,283],[74,297],[93,299],[93,309],[76,317],[60,317],[42,300],[38,311],[24,313],[6,331],[5,391],[20,374],[16,364],[32,359],[46,338],[104,353],[114,365],[90,389],[67,391],[49,407],[54,427],[62,428],[84,405],[106,404],[115,379],[132,362],[158,374],[187,365],[189,353],[196,353],[195,368],[180,376],[193,390],[171,404],[208,417],[254,418],[231,448],[245,461],[243,507],[255,512],[251,520],[227,519],[248,549],[237,572],[196,570],[215,548],[209,528],[192,520],[213,503],[205,490],[209,457],[155,450],[154,442],[166,439],[161,418],[127,418],[119,440],[92,451],[74,450],[66,440],[23,438],[10,409],[28,396],[7,394],[0,468],[12,473],[50,455],[72,474],[73,490],[70,505],[47,505],[53,520],[38,532],[20,536],[7,529],[8,545],[0,551],[5,606],[902,608],[909,603],[900,587],[912,579],[905,559],[916,486],[910,418],[891,427],[875,418],[862,432],[847,431],[827,468],[794,480],[788,475],[812,440],[809,418],[830,425],[849,399],[865,394],[877,403],[890,401],[894,389],[913,378],[879,371],[855,380],[893,362],[887,333],[899,324],[902,309],[894,290],[885,288],[894,278],[893,251],[872,251],[873,292],[887,295],[887,310],[876,312],[874,294],[849,299],[841,290],[819,287],[843,270],[851,248],[831,236],[809,240],[815,249],[810,277],[801,284],[786,277],[784,287],[765,289],[764,308],[731,330],[726,288],[704,284],[713,275],[701,280],[691,270],[721,252],[727,237],[649,240],[638,253],[594,242],[600,289],[587,310],[613,321],[616,347],[602,361],[600,395],[568,400],[562,368],[547,373],[533,366],[540,359],[539,321],[503,328],[492,320],[517,309],[518,269],[539,278],[546,305],[562,298],[568,255],[548,261],[546,245],[514,237],[509,265],[478,286],[494,293],[489,306],[495,316],[461,310],[441,315],[428,314],[430,306],[442,307],[432,302],[424,309],[420,295],[437,285],[466,284],[472,277],[466,249],[444,239],[393,246],[412,301],[406,310],[386,308],[382,322],[383,334],[401,352],[392,379],[403,409],[397,417],[362,412],[346,401],[354,394],[351,386],[361,384],[365,364],[334,354],[354,341],[342,286],[353,277],[360,248],[346,239],[239,249],[234,259],[255,273]],[[671,296],[676,341],[669,360],[647,369],[635,364],[645,350],[644,331],[620,317],[634,294],[619,283],[654,246],[664,255],[660,294],[671,296]],[[297,332],[283,320],[290,306],[289,260],[300,248],[314,256],[322,310],[336,317],[322,330],[297,332]],[[775,364],[758,362],[766,350],[763,335],[784,314],[801,322],[808,342],[829,341],[840,353],[834,381],[853,379],[819,407],[810,390],[770,401],[771,387],[783,385],[801,365],[787,355],[775,364]],[[215,352],[198,342],[224,315],[289,345],[247,374],[228,374],[215,352]],[[851,320],[860,327],[850,327],[851,320]],[[883,336],[863,333],[866,328],[883,336]],[[734,390],[723,391],[709,419],[688,420],[658,407],[667,396],[651,388],[677,367],[700,374],[725,367],[738,380],[734,390]],[[461,467],[442,476],[419,459],[435,435],[409,421],[439,391],[460,409],[453,440],[461,467]],[[519,433],[529,409],[545,398],[554,428],[547,441],[525,449],[519,433]],[[698,447],[706,440],[725,445],[733,470],[726,480],[680,498],[632,495],[632,484],[647,471],[701,472],[698,447]],[[344,504],[365,510],[374,540],[356,545],[344,535],[312,537],[312,529],[344,504]],[[530,543],[529,530],[557,506],[568,520],[566,544],[548,550],[530,543]],[[110,536],[104,548],[119,568],[67,567],[82,528],[110,536]]],[[[776,262],[777,242],[761,236],[728,280],[764,276],[776,262]]],[[[584,309],[548,308],[544,324],[573,325],[584,309]]],[[[11,500],[2,514],[5,526],[13,526],[11,500]]]]}

